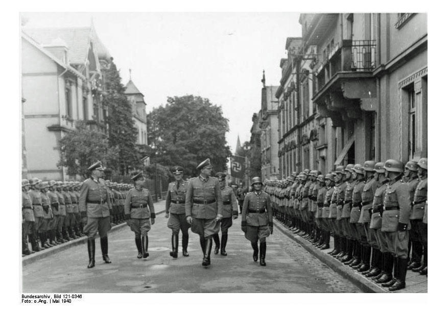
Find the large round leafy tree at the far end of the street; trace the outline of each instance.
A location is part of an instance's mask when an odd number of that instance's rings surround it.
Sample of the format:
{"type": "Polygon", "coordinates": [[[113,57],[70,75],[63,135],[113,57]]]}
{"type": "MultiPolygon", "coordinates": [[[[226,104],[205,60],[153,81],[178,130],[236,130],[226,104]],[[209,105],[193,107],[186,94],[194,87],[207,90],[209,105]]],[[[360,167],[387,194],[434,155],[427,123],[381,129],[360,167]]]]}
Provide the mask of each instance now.
{"type": "Polygon", "coordinates": [[[153,163],[180,165],[185,175],[196,176],[197,164],[209,158],[215,171],[226,170],[231,152],[221,107],[200,96],[168,97],[166,106],[151,111],[147,121],[153,163]]]}

